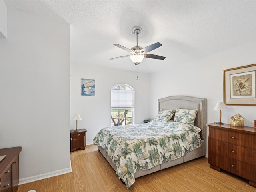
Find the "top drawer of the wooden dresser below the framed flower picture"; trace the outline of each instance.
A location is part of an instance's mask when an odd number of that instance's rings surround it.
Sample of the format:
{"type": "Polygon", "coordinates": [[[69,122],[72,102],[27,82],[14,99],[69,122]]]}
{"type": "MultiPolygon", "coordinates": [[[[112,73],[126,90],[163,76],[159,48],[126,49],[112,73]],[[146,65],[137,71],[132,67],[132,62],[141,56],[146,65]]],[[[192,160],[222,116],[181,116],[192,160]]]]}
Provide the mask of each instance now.
{"type": "Polygon", "coordinates": [[[209,138],[256,150],[255,134],[210,127],[209,138]]]}

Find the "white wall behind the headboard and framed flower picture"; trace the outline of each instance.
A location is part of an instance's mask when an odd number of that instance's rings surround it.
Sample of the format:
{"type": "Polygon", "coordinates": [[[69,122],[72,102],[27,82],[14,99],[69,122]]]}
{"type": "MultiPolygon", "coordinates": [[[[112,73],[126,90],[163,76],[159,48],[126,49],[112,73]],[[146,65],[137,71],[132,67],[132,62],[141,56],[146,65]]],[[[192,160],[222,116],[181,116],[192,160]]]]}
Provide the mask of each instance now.
{"type": "MultiPolygon", "coordinates": [[[[206,58],[184,63],[169,64],[168,70],[151,74],[151,113],[157,114],[157,99],[171,95],[195,96],[207,99],[207,123],[219,120],[219,111],[213,110],[223,101],[223,70],[256,63],[256,42],[236,47],[206,58]]],[[[240,113],[245,126],[254,126],[256,106],[227,106],[222,110],[222,122],[240,113]]]]}

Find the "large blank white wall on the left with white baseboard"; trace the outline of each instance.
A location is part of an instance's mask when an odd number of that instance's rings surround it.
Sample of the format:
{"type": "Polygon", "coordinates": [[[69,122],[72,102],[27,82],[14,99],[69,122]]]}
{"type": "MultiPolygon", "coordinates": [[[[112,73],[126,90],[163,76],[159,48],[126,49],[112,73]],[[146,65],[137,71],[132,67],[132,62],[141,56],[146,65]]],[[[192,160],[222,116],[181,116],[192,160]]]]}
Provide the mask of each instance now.
{"type": "Polygon", "coordinates": [[[22,146],[20,184],[70,171],[70,25],[7,9],[0,148],[22,146]]]}

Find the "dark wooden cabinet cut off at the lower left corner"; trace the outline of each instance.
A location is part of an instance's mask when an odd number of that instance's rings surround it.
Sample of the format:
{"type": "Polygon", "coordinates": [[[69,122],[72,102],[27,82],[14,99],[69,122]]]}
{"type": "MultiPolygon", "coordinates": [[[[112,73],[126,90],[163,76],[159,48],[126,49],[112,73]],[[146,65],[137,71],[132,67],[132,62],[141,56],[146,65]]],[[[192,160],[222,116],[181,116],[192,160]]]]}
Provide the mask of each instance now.
{"type": "Polygon", "coordinates": [[[0,192],[16,192],[20,181],[19,154],[22,147],[0,149],[0,192]]]}

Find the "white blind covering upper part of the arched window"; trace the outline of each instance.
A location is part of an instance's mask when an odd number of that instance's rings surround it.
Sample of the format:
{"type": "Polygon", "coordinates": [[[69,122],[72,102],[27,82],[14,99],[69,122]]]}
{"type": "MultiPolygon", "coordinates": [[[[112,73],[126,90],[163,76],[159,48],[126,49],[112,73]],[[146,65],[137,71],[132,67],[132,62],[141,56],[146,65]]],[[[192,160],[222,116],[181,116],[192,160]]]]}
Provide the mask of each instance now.
{"type": "Polygon", "coordinates": [[[134,108],[134,90],[111,90],[111,108],[134,108]]]}

